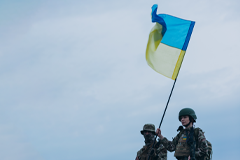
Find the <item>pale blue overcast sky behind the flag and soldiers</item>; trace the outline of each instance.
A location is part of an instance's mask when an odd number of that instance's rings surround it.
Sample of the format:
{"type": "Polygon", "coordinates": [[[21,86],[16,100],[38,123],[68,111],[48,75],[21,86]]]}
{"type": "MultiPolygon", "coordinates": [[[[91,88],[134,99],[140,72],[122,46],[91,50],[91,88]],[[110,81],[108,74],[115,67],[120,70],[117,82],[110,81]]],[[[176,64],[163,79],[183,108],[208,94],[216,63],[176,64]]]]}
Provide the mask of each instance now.
{"type": "Polygon", "coordinates": [[[1,0],[1,160],[135,159],[174,82],[145,60],[153,4],[196,22],[163,136],[191,107],[213,160],[238,159],[239,0],[1,0]]]}

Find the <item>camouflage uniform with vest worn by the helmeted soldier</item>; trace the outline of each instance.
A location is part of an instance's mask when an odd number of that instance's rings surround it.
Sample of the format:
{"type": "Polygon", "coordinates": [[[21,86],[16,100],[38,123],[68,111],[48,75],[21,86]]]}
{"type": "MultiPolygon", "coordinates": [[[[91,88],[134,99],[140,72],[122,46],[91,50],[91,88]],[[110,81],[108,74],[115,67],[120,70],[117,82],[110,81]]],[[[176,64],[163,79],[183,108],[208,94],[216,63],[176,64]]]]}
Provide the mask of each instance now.
{"type": "MultiPolygon", "coordinates": [[[[204,156],[207,154],[207,141],[204,136],[204,132],[200,128],[198,129],[198,137],[195,144],[195,157],[196,160],[203,160],[204,156]]],[[[195,129],[195,130],[196,130],[195,129]]],[[[190,155],[190,147],[187,144],[187,134],[189,134],[190,129],[184,129],[177,134],[172,141],[169,141],[167,138],[161,140],[161,144],[170,152],[175,151],[174,156],[179,160],[184,160],[190,155]]]]}

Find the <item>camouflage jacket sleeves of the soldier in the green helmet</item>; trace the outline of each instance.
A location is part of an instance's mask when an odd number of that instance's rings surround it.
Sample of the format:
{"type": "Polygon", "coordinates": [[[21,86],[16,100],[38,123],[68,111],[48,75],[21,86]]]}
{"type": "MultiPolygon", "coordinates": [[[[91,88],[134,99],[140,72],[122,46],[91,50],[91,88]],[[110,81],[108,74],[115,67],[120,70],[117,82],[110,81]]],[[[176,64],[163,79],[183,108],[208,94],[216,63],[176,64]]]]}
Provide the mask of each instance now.
{"type": "MultiPolygon", "coordinates": [[[[197,145],[195,144],[195,157],[196,159],[201,159],[201,157],[204,157],[207,154],[207,141],[204,136],[204,132],[200,128],[197,128],[197,129],[199,131],[198,131],[198,135],[196,135],[197,140],[195,140],[197,144],[197,145]]],[[[194,130],[196,130],[196,128],[194,130]]],[[[189,129],[184,129],[183,131],[179,132],[177,136],[173,138],[172,141],[169,141],[167,138],[164,137],[164,139],[161,140],[160,143],[163,144],[163,146],[168,151],[170,152],[176,151],[176,147],[181,145],[181,142],[183,140],[186,140],[184,133],[189,133],[189,132],[190,132],[189,129]]],[[[176,155],[174,156],[177,157],[176,155]]]]}

